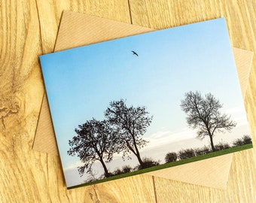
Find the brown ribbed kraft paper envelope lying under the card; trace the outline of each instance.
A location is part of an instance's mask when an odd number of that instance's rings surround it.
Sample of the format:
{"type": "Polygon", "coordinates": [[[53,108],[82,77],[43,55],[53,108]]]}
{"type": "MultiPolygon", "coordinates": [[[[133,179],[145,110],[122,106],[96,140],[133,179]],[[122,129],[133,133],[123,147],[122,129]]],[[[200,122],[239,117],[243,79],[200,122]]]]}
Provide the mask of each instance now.
{"type": "MultiPolygon", "coordinates": [[[[81,47],[87,44],[151,31],[153,29],[64,11],[54,51],[81,47]]],[[[242,95],[245,95],[253,53],[237,48],[233,48],[233,53],[239,74],[242,95]]],[[[41,114],[38,120],[33,149],[58,154],[46,96],[44,96],[41,106],[41,114]]],[[[233,154],[217,156],[199,162],[191,162],[186,165],[153,171],[148,174],[201,186],[225,189],[232,157],[233,154]]]]}

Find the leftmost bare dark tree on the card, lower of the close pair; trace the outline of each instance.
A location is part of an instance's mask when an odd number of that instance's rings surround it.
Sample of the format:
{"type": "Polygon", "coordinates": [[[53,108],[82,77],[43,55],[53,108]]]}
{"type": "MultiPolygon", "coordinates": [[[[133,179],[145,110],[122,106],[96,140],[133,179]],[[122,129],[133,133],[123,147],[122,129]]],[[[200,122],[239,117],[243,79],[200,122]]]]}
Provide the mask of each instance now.
{"type": "Polygon", "coordinates": [[[105,177],[111,174],[105,162],[111,162],[114,153],[114,137],[112,136],[111,126],[106,120],[87,120],[83,125],[75,129],[77,136],[69,140],[71,148],[68,151],[70,156],[77,155],[84,165],[78,167],[79,174],[84,174],[92,170],[94,162],[99,161],[105,172],[105,177]]]}

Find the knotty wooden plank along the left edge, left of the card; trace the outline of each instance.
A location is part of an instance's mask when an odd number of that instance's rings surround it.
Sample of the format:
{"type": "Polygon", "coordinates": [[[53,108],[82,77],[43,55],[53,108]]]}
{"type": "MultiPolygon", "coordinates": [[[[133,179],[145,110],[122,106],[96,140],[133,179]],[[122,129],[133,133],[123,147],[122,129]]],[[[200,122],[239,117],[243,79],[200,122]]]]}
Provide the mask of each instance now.
{"type": "Polygon", "coordinates": [[[46,202],[47,156],[31,152],[44,92],[38,13],[34,1],[0,9],[0,201],[46,202]]]}

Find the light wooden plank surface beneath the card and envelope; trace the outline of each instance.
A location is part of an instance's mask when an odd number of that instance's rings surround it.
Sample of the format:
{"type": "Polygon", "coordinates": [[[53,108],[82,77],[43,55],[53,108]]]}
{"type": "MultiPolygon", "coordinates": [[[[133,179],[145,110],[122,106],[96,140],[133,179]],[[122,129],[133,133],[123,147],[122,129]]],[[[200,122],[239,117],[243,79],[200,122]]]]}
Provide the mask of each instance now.
{"type": "MultiPolygon", "coordinates": [[[[164,29],[225,17],[233,47],[256,52],[254,0],[0,0],[0,202],[256,202],[256,150],[235,153],[227,189],[139,175],[67,190],[59,157],[32,150],[63,10],[164,29]]],[[[245,108],[256,144],[256,59],[245,108]]]]}

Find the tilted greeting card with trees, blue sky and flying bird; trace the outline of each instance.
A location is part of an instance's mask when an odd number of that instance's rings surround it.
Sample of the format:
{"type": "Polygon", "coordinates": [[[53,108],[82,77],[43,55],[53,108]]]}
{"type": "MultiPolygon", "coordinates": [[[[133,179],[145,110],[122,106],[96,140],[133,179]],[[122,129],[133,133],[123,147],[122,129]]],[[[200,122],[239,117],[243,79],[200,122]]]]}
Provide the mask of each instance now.
{"type": "Polygon", "coordinates": [[[252,147],[223,18],[40,62],[68,189],[252,147]]]}

